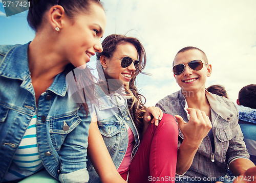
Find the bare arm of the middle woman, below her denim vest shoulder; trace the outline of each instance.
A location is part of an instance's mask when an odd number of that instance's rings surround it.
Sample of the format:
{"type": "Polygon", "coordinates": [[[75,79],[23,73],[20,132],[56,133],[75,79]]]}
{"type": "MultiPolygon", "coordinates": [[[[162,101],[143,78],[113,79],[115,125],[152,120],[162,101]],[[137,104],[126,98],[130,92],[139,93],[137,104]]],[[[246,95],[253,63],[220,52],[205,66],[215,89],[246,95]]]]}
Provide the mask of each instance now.
{"type": "Polygon", "coordinates": [[[96,115],[92,122],[88,137],[88,155],[102,183],[126,182],[118,173],[104,140],[99,132],[96,115]]]}

